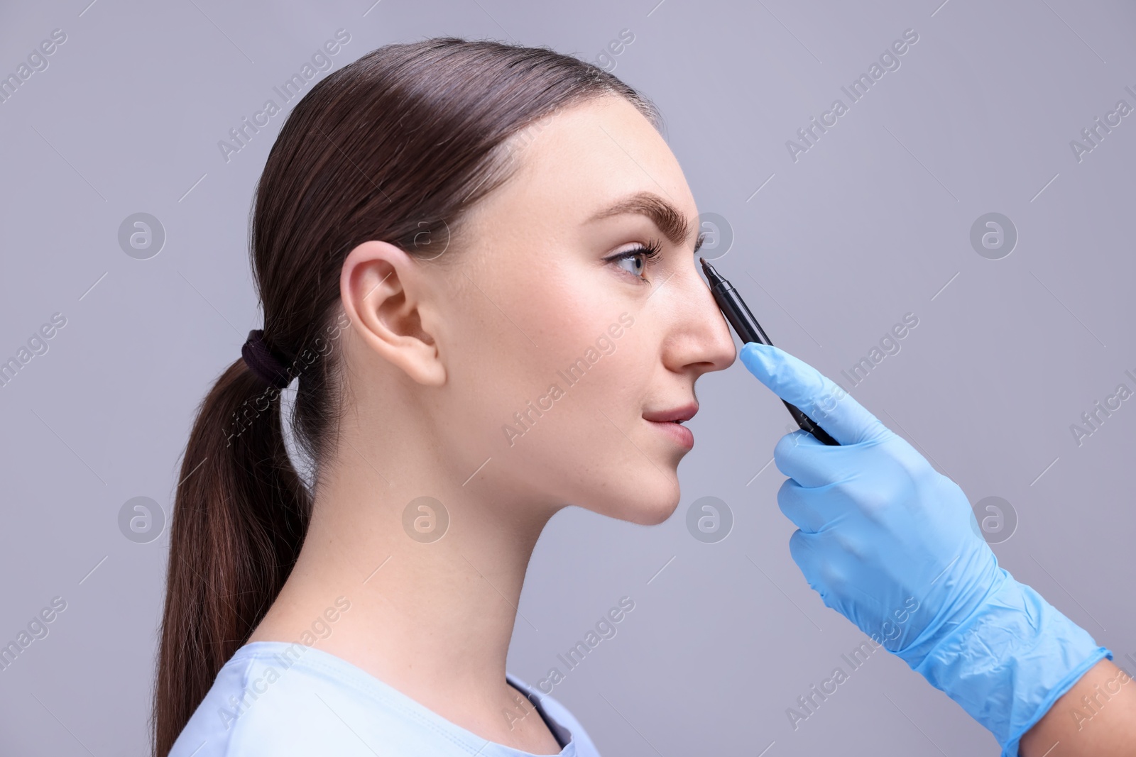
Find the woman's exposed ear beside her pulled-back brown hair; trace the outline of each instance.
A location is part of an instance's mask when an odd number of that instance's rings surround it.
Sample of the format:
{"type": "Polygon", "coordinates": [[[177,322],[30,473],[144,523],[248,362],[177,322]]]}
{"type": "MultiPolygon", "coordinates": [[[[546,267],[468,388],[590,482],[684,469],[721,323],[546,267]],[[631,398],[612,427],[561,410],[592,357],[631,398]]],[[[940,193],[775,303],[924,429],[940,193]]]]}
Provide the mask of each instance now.
{"type": "Polygon", "coordinates": [[[424,323],[434,301],[421,263],[389,242],[364,242],[343,261],[340,297],[362,344],[425,386],[445,384],[445,365],[424,323]]]}

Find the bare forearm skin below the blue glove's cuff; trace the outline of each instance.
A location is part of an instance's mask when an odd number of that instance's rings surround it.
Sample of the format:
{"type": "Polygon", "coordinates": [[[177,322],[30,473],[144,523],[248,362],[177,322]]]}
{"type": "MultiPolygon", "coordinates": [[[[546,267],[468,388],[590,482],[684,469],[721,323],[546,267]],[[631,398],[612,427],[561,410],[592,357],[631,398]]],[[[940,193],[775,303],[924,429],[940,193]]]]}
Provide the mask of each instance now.
{"type": "Polygon", "coordinates": [[[1136,681],[1102,659],[1021,738],[1022,757],[1122,757],[1136,743],[1136,681]]]}

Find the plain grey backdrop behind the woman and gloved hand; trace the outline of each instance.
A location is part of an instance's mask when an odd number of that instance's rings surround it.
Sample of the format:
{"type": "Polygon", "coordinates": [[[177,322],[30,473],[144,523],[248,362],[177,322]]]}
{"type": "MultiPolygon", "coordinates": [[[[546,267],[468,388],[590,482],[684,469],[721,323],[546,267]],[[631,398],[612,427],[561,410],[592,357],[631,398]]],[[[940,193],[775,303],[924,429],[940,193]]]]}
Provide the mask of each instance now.
{"type": "MultiPolygon", "coordinates": [[[[247,219],[284,118],[228,163],[217,142],[341,27],[351,41],[336,69],[440,34],[594,59],[630,30],[615,73],[665,112],[700,209],[728,219],[719,267],[774,340],[840,378],[916,313],[902,351],[853,395],[972,503],[1010,502],[1019,524],[994,547],[1000,562],[1118,662],[1136,653],[1136,399],[1080,446],[1069,430],[1118,384],[1136,386],[1124,373],[1136,373],[1136,116],[1080,162],[1069,146],[1117,100],[1136,106],[1124,90],[1136,89],[1130,5],[87,2],[0,10],[5,75],[52,30],[67,34],[0,104],[0,358],[52,313],[67,318],[0,389],[0,641],[52,597],[67,602],[0,672],[0,752],[144,752],[168,532],[131,541],[118,513],[148,496],[168,516],[194,409],[260,325],[247,219]],[[791,160],[785,141],[847,101],[840,87],[907,28],[919,41],[901,68],[791,160]],[[135,212],[167,234],[149,260],[117,242],[135,212]],[[1002,260],[970,246],[986,212],[1018,229],[1002,260]]],[[[538,680],[627,595],[636,607],[618,634],[553,692],[603,754],[996,754],[884,651],[792,729],[786,708],[847,670],[841,654],[866,637],[790,558],[783,477],[769,465],[754,478],[784,407],[740,362],[704,377],[699,398],[670,520],[553,520],[520,607],[540,630],[517,625],[510,668],[538,680]],[[686,530],[703,496],[734,513],[717,544],[686,530]]]]}

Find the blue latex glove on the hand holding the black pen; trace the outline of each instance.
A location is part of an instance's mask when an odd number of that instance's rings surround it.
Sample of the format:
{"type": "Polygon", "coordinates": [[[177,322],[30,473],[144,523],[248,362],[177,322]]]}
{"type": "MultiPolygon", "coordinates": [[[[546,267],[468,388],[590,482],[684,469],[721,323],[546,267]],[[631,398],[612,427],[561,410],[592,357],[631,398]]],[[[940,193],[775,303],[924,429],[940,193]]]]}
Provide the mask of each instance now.
{"type": "Polygon", "coordinates": [[[809,586],[1017,757],[1021,735],[1112,653],[1000,567],[962,489],[851,395],[777,347],[751,342],[741,359],[841,444],[793,431],[774,449],[809,586]]]}

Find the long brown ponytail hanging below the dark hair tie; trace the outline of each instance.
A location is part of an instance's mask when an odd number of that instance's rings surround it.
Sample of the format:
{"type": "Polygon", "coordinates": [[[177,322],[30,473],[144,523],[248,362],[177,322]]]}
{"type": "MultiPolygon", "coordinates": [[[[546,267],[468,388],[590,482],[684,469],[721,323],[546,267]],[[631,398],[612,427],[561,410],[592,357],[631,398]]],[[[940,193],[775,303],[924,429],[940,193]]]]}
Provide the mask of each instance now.
{"type": "Polygon", "coordinates": [[[311,515],[279,392],[243,359],[201,403],[178,478],[154,700],[161,757],[279,594],[311,515]]]}

